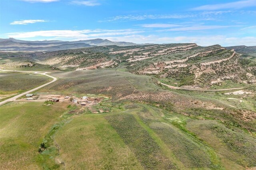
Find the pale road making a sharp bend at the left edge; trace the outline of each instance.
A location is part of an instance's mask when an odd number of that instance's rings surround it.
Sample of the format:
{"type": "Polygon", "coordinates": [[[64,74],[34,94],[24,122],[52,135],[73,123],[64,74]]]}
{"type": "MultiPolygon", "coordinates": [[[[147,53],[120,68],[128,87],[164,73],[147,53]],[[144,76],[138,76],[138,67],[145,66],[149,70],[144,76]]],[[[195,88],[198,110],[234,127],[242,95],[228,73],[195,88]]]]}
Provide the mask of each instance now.
{"type": "MultiPolygon", "coordinates": [[[[0,69],[0,71],[13,71],[13,70],[1,70],[1,69],[0,69]]],[[[15,71],[15,72],[16,72],[16,71],[15,71]]],[[[53,77],[53,76],[51,76],[51,75],[47,75],[47,73],[50,73],[50,72],[42,72],[42,71],[18,71],[18,72],[30,72],[30,73],[33,72],[33,73],[35,73],[35,74],[42,74],[42,75],[51,77],[53,80],[50,81],[50,82],[48,82],[48,83],[45,83],[45,84],[43,84],[43,85],[40,85],[39,87],[36,87],[36,88],[34,88],[34,89],[32,89],[32,90],[29,90],[29,91],[26,91],[26,92],[21,93],[21,94],[19,94],[19,95],[16,95],[16,96],[14,96],[14,97],[12,97],[12,98],[10,98],[10,99],[6,99],[6,100],[0,102],[0,105],[3,105],[4,103],[6,103],[6,102],[8,102],[8,101],[15,101],[17,98],[19,98],[19,97],[21,97],[21,96],[23,96],[23,95],[26,95],[27,93],[31,93],[31,92],[33,92],[33,91],[35,91],[35,90],[38,90],[38,89],[40,89],[40,88],[42,88],[42,87],[44,87],[44,86],[46,86],[46,85],[49,85],[49,84],[51,84],[51,83],[53,83],[54,81],[57,80],[56,77],[53,77]]]]}

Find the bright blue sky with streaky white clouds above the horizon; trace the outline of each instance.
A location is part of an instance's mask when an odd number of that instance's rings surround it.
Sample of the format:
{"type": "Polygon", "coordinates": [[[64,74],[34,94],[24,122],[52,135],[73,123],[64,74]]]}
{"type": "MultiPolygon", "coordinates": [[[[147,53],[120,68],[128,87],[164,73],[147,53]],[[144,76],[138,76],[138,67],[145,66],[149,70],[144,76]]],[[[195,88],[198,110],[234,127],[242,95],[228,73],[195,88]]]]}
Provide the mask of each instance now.
{"type": "Polygon", "coordinates": [[[0,0],[0,37],[256,45],[256,0],[0,0]]]}

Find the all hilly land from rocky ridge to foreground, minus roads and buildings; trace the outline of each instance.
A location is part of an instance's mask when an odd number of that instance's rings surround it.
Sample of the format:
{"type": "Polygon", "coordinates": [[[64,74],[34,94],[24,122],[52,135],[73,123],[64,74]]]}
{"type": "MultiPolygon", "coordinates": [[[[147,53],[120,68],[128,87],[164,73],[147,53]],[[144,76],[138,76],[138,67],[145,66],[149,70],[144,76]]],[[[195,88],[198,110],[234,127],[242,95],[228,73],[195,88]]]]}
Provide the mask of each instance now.
{"type": "MultiPolygon", "coordinates": [[[[49,71],[57,81],[34,91],[39,99],[0,106],[0,169],[256,166],[256,64],[234,50],[109,45],[1,57],[1,69],[49,71]],[[53,96],[70,98],[40,100],[53,96]],[[72,102],[83,96],[85,106],[72,102]]],[[[17,71],[0,78],[7,98],[50,81],[17,71]]]]}

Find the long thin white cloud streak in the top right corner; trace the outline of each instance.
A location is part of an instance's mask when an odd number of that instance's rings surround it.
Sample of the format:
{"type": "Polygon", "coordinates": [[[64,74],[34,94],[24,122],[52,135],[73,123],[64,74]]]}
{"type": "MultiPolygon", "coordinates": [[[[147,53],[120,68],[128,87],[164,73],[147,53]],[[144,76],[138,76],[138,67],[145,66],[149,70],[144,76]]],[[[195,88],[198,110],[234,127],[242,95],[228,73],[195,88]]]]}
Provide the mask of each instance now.
{"type": "Polygon", "coordinates": [[[196,8],[192,8],[192,10],[221,10],[221,9],[240,9],[246,7],[256,6],[256,0],[242,0],[236,2],[228,2],[222,4],[214,4],[214,5],[203,5],[196,8]]]}

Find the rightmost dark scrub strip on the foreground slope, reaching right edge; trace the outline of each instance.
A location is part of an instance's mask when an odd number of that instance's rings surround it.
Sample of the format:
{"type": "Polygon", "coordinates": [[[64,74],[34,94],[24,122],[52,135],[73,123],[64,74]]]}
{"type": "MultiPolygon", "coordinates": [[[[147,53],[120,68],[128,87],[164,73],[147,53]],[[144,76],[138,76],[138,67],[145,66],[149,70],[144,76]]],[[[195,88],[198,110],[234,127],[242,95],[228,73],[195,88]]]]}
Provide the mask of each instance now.
{"type": "Polygon", "coordinates": [[[227,158],[245,167],[256,166],[255,138],[210,120],[189,121],[187,127],[227,158]]]}

